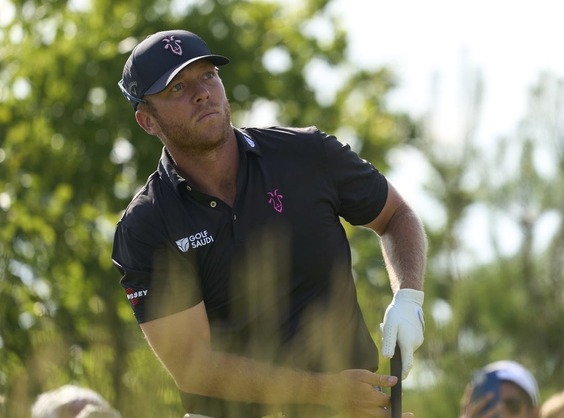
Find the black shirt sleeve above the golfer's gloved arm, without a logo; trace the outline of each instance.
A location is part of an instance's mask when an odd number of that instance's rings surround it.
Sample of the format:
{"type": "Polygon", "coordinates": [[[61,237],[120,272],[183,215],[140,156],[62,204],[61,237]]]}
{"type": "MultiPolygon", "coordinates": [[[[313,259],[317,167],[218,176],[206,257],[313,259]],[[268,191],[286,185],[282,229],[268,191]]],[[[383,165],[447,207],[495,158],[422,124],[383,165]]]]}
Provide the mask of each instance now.
{"type": "Polygon", "coordinates": [[[339,199],[338,215],[351,225],[366,225],[380,214],[387,199],[387,180],[374,166],[360,158],[348,144],[333,135],[324,138],[329,175],[339,199]]]}

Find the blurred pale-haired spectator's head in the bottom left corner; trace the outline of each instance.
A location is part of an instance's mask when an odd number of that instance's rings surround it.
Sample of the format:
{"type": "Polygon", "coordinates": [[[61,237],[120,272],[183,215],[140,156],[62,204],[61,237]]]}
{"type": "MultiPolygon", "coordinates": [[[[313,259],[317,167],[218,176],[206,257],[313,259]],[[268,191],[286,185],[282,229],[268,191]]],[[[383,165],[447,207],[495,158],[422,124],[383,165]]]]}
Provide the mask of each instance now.
{"type": "Polygon", "coordinates": [[[37,397],[32,418],[121,418],[121,415],[94,390],[64,385],[37,397]]]}

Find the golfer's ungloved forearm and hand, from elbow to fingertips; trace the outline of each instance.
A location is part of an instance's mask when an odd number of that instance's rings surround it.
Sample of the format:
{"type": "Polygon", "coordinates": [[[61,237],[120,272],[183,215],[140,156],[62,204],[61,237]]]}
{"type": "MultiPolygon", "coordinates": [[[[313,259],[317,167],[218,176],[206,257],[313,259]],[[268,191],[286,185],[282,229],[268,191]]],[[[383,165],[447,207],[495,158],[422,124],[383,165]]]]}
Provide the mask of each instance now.
{"type": "Polygon", "coordinates": [[[173,372],[179,389],[188,393],[263,404],[321,404],[346,416],[389,407],[389,396],[374,386],[397,381],[368,370],[312,373],[210,350],[193,358],[173,372]]]}

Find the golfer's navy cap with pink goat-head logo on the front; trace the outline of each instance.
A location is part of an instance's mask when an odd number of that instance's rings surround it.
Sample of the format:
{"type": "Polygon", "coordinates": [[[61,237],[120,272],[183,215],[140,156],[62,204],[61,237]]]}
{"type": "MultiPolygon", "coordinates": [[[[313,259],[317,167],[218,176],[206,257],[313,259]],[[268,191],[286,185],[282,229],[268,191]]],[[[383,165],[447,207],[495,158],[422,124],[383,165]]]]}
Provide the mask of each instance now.
{"type": "Polygon", "coordinates": [[[195,33],[157,32],[133,49],[118,86],[135,110],[139,103],[147,103],[142,99],[144,95],[164,90],[184,67],[202,59],[214,65],[229,63],[224,56],[211,54],[204,40],[195,33]]]}

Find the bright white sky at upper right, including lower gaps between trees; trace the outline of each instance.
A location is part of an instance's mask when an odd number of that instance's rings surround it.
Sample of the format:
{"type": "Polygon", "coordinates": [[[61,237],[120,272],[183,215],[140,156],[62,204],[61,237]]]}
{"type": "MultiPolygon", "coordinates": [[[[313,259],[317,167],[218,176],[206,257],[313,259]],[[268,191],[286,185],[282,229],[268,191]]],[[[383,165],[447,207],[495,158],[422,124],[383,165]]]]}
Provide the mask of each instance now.
{"type": "MultiPolygon", "coordinates": [[[[486,148],[517,130],[527,111],[529,91],[541,72],[564,78],[564,2],[333,0],[331,10],[349,33],[348,55],[355,65],[386,65],[397,74],[399,86],[387,98],[389,108],[421,117],[434,105],[437,113],[431,127],[446,146],[456,147],[461,137],[469,68],[479,71],[484,81],[475,140],[486,148]]],[[[387,177],[426,225],[440,227],[442,209],[422,189],[421,183],[429,179],[422,156],[403,149],[389,159],[394,168],[387,177]]],[[[461,226],[469,265],[493,256],[492,225],[486,218],[487,208],[475,205],[461,226]]],[[[538,235],[545,240],[537,243],[539,250],[560,221],[554,213],[541,219],[538,235]]],[[[503,237],[498,243],[501,251],[514,253],[521,238],[518,226],[506,214],[498,214],[493,227],[493,234],[503,237]]]]}

